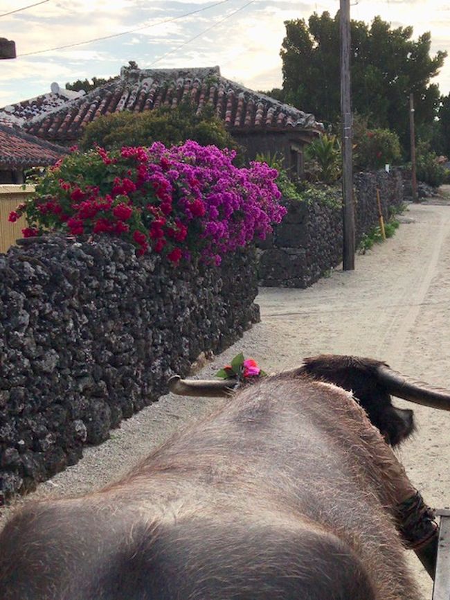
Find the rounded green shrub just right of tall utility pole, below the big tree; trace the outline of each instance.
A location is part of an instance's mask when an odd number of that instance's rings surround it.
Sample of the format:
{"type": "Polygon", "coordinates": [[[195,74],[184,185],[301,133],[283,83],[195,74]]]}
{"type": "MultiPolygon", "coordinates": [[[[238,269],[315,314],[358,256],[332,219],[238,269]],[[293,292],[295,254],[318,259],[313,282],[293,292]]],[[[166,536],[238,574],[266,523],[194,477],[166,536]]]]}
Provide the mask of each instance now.
{"type": "Polygon", "coordinates": [[[385,164],[397,164],[402,158],[397,134],[387,129],[361,132],[354,143],[354,164],[360,169],[379,169],[385,164]]]}

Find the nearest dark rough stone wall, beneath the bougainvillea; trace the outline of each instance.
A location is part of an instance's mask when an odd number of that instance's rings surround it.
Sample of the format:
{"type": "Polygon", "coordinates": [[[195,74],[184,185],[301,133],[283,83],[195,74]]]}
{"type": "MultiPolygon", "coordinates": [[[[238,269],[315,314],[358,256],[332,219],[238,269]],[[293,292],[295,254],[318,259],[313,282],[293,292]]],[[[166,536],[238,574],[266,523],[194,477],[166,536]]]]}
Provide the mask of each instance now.
{"type": "Polygon", "coordinates": [[[250,250],[181,268],[109,238],[0,254],[0,504],[235,342],[259,320],[255,273],[250,250]]]}

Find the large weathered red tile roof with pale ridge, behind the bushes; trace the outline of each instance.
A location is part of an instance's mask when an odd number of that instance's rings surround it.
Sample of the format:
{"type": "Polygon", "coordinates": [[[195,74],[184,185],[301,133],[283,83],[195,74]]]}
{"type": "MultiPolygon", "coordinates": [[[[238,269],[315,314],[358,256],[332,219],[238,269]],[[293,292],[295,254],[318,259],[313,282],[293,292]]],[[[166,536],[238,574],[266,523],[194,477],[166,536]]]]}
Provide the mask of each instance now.
{"type": "Polygon", "coordinates": [[[82,98],[68,100],[60,109],[32,118],[26,130],[62,143],[80,138],[84,127],[102,114],[123,110],[142,112],[161,106],[176,107],[189,99],[197,109],[213,105],[231,131],[297,130],[319,132],[314,115],[247,89],[206,69],[123,69],[120,78],[82,98]]]}

